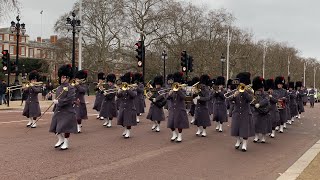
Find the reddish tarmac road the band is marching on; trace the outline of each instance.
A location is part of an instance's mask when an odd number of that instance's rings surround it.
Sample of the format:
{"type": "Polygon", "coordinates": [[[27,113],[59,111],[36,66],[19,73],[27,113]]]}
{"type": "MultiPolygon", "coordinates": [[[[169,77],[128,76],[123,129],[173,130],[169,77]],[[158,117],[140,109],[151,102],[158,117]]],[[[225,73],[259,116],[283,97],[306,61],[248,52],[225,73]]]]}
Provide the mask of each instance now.
{"type": "Polygon", "coordinates": [[[30,131],[21,108],[0,111],[0,179],[274,180],[320,139],[319,104],[305,107],[285,133],[266,144],[251,138],[248,151],[241,152],[230,136],[231,119],[222,133],[213,124],[207,137],[196,137],[191,125],[183,131],[182,143],[172,143],[166,122],[159,133],[152,132],[145,113],[132,137],[124,139],[116,119],[112,128],[103,127],[92,110],[94,96],[86,99],[89,119],[83,133],[71,135],[67,151],[53,148],[57,139],[48,132],[51,110],[30,131]]]}

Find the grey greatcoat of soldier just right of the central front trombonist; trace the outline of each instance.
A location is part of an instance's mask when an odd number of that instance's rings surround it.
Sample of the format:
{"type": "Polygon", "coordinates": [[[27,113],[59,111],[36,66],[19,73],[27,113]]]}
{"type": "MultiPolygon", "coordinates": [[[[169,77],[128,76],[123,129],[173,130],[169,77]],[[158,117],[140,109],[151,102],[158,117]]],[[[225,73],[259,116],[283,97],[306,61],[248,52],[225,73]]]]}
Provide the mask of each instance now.
{"type": "Polygon", "coordinates": [[[195,107],[195,121],[194,125],[209,127],[211,126],[208,103],[210,102],[210,90],[207,86],[201,85],[199,93],[200,99],[197,100],[195,107]]]}

